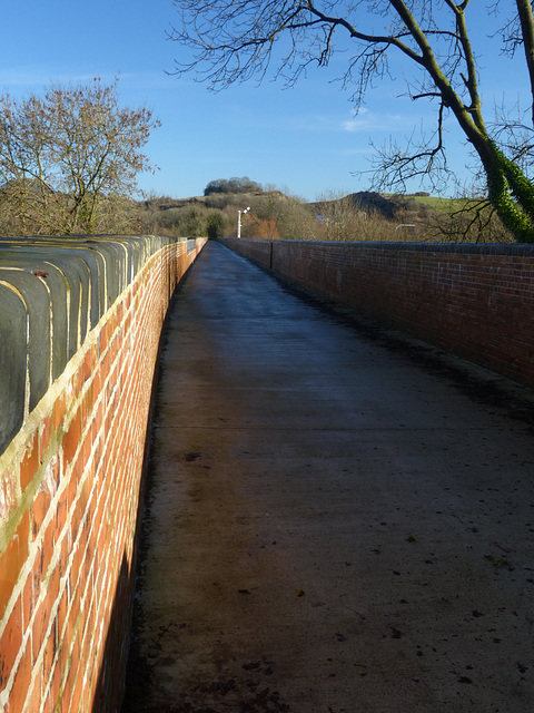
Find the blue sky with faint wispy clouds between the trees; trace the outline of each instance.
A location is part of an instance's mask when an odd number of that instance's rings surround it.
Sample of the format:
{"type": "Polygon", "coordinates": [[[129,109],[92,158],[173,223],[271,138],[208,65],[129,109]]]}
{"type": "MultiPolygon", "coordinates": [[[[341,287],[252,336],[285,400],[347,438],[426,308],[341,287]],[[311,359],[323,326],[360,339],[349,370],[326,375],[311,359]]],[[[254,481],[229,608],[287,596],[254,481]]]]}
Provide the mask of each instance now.
{"type": "MultiPolygon", "coordinates": [[[[474,39],[484,67],[488,105],[515,100],[523,69],[488,42],[488,16],[474,0],[474,39]]],[[[249,176],[263,185],[314,201],[322,195],[368,188],[352,174],[368,168],[369,139],[398,140],[418,127],[429,107],[398,98],[402,81],[378,85],[355,117],[347,92],[332,84],[334,68],[312,71],[293,89],[265,81],[211,94],[192,76],[172,71],[179,48],[166,32],[177,21],[171,0],[13,0],[2,7],[0,88],[14,96],[50,81],[77,82],[120,74],[125,104],[147,105],[162,123],[147,153],[159,166],[140,177],[156,195],[201,195],[216,178],[249,176]]],[[[458,173],[468,160],[462,137],[447,137],[458,173]]],[[[412,189],[419,189],[414,185],[412,189]]]]}

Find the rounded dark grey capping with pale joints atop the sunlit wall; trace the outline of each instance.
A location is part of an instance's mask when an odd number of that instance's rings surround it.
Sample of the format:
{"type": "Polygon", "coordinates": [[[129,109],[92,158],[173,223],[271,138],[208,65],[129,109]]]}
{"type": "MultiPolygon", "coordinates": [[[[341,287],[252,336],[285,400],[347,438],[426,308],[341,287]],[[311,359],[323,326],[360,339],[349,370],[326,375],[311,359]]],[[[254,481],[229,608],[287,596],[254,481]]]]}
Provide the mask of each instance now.
{"type": "Polygon", "coordinates": [[[0,240],[0,453],[147,260],[178,240],[0,240]]]}

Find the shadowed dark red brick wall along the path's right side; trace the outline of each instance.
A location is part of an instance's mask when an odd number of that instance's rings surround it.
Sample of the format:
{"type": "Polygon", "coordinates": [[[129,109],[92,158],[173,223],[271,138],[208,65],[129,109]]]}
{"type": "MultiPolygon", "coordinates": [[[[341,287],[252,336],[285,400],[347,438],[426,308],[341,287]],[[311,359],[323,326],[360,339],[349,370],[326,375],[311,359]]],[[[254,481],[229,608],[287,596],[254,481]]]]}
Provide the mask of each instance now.
{"type": "Polygon", "coordinates": [[[534,387],[534,246],[224,242],[364,316],[534,387]]]}

